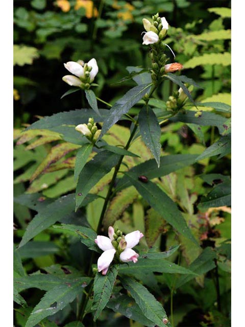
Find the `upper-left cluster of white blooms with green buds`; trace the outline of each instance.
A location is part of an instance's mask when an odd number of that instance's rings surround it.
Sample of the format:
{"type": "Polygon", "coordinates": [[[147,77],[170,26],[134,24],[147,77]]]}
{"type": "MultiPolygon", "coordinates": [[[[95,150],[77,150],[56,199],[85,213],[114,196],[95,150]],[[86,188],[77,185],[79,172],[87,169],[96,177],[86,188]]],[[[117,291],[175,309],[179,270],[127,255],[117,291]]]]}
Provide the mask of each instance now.
{"type": "Polygon", "coordinates": [[[89,60],[88,63],[84,63],[82,60],[79,60],[78,62],[68,61],[67,63],[64,63],[64,66],[67,71],[76,76],[66,75],[62,80],[70,86],[78,86],[82,89],[89,89],[90,84],[93,82],[99,71],[97,62],[94,58],[89,60]]]}

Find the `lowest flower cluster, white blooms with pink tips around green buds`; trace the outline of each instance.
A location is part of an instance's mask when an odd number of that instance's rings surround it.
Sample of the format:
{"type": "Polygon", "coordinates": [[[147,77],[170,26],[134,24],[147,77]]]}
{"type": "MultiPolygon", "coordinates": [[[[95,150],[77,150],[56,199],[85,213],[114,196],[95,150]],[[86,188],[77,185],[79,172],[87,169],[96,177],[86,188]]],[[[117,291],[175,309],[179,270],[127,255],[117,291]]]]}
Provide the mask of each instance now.
{"type": "Polygon", "coordinates": [[[108,237],[98,235],[94,242],[104,252],[101,254],[97,262],[98,271],[106,275],[109,266],[113,259],[118,263],[138,261],[138,253],[132,248],[139,243],[143,234],[139,230],[135,230],[127,235],[122,235],[122,232],[110,226],[108,228],[108,237]]]}

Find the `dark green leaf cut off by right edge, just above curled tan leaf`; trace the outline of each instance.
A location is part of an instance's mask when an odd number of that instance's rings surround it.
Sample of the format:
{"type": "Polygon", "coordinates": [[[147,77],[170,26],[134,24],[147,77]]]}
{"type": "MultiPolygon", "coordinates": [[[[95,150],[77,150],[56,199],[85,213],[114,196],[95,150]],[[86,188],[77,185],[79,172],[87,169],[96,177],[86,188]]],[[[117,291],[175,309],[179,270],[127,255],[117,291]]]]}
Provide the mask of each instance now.
{"type": "Polygon", "coordinates": [[[231,205],[231,180],[216,185],[206,197],[201,198],[199,208],[210,208],[231,205]]]}

